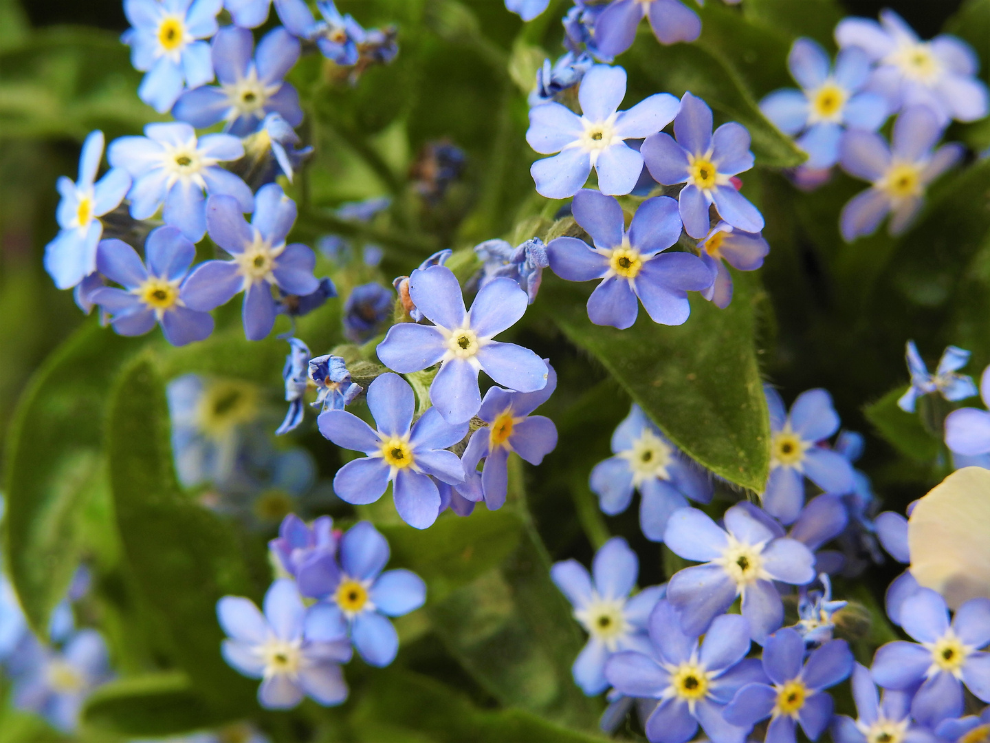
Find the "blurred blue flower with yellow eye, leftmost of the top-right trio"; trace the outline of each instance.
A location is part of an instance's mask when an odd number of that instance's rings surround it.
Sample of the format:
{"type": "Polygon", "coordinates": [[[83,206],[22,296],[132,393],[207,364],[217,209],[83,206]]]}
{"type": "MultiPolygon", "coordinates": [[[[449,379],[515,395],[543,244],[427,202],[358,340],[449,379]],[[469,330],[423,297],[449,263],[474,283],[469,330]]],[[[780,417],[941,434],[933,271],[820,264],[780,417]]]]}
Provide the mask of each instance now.
{"type": "Polygon", "coordinates": [[[759,108],[784,134],[801,135],[796,144],[808,153],[803,167],[832,167],[846,129],[875,132],[887,120],[886,100],[862,92],[872,66],[862,50],[843,49],[832,69],[821,45],[802,38],[791,47],[787,66],[801,90],[776,90],[759,108]]]}

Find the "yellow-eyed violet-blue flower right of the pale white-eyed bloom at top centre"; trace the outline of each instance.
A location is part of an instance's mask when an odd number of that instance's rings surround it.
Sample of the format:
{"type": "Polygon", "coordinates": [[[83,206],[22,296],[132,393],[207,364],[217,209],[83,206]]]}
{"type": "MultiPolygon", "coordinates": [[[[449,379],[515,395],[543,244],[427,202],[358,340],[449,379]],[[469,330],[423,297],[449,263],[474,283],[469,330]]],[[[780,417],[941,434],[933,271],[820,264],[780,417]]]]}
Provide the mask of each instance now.
{"type": "Polygon", "coordinates": [[[732,176],[752,167],[749,133],[742,124],[723,124],[712,134],[712,109],[684,93],[674,119],[676,142],[654,134],[643,143],[643,159],[657,183],[686,183],[678,197],[684,229],[695,240],[708,235],[708,207],[715,204],[723,220],[744,232],[760,232],[763,215],[741,194],[732,176]]]}

